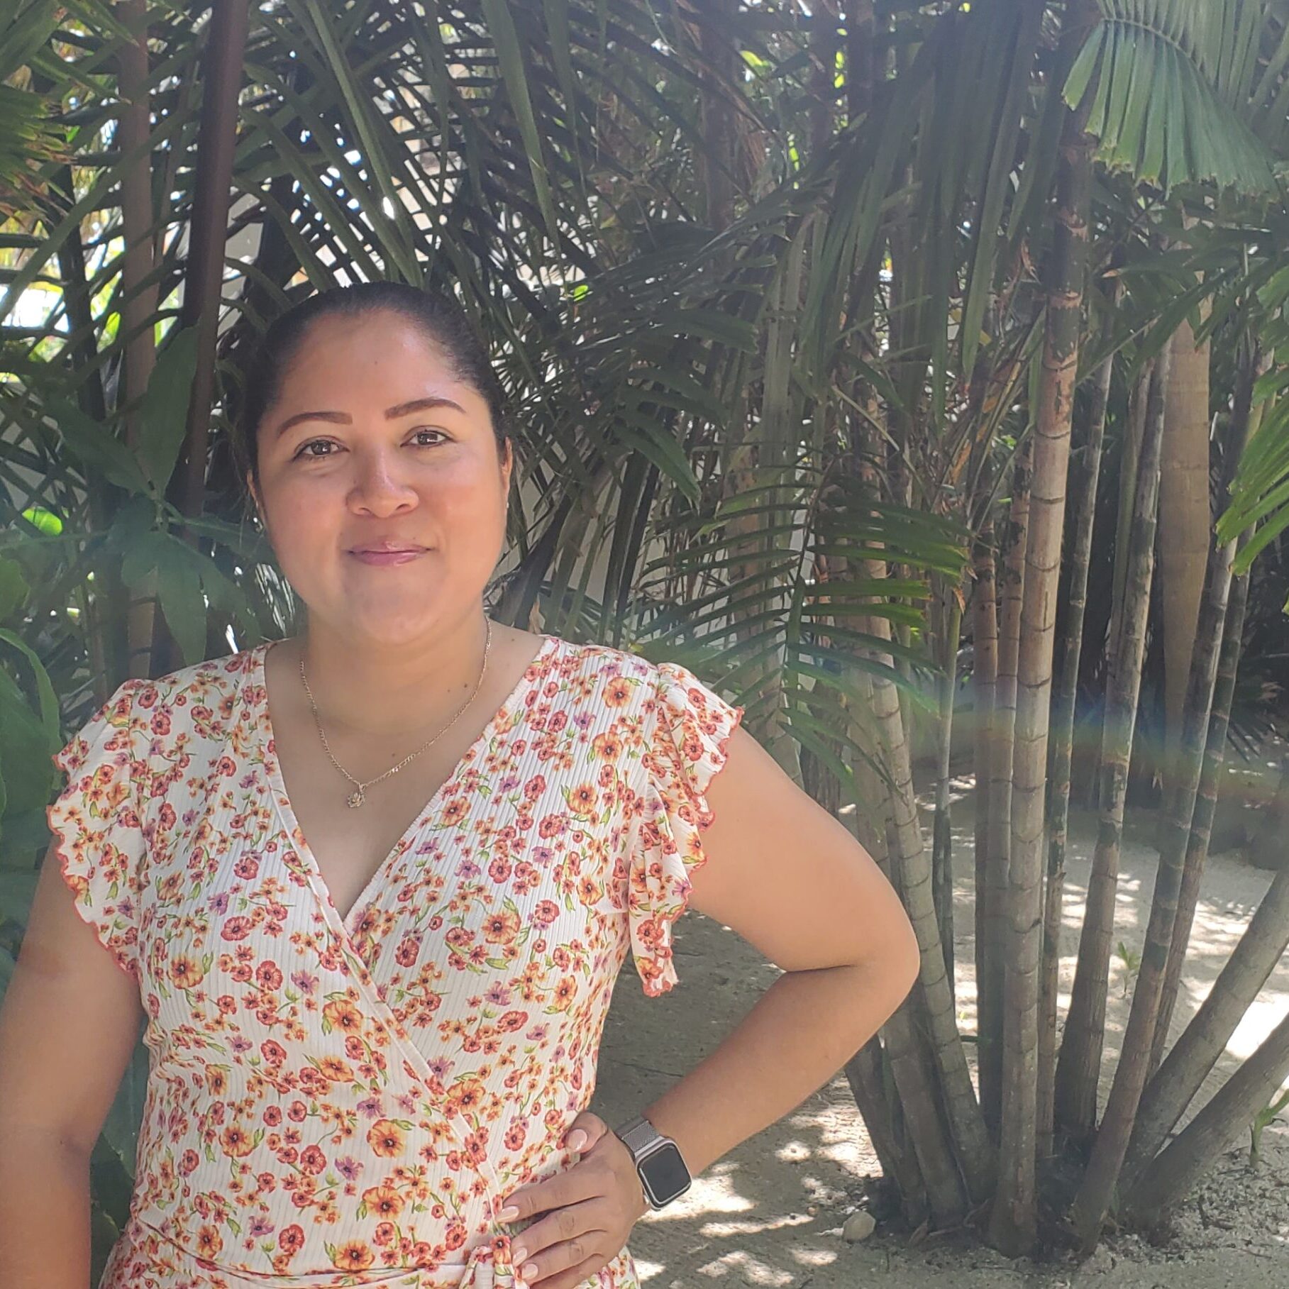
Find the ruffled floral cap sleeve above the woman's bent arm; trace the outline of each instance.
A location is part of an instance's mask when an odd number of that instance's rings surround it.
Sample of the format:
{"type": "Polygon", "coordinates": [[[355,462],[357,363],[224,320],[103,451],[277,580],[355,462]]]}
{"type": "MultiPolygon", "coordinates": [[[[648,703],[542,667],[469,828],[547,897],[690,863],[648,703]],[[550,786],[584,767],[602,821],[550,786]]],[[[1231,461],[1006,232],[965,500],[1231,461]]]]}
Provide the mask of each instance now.
{"type": "Polygon", "coordinates": [[[656,998],[677,984],[672,927],[705,862],[700,833],[715,819],[706,789],[742,719],[677,663],[659,663],[644,704],[644,804],[628,866],[628,926],[635,971],[656,998]]]}

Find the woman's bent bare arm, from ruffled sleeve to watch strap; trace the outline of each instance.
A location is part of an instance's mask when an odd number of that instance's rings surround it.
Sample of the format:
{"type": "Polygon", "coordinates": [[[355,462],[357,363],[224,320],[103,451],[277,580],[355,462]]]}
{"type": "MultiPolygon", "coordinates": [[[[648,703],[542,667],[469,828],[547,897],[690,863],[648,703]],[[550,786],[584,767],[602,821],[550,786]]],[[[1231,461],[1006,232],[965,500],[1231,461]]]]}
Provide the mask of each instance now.
{"type": "Polygon", "coordinates": [[[918,977],[918,942],[882,870],[741,727],[706,791],[715,821],[691,906],[785,974],[643,1112],[706,1169],[831,1078],[918,977]]]}

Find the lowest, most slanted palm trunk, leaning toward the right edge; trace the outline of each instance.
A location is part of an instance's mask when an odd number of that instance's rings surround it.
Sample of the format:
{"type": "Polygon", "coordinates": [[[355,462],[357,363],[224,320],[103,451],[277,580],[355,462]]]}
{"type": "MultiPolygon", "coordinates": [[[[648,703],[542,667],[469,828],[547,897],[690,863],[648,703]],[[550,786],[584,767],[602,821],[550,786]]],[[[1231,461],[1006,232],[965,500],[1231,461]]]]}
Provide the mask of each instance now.
{"type": "Polygon", "coordinates": [[[1231,1148],[1289,1076],[1289,1016],[1186,1125],[1150,1167],[1129,1197],[1134,1219],[1150,1223],[1185,1197],[1199,1178],[1231,1148]]]}

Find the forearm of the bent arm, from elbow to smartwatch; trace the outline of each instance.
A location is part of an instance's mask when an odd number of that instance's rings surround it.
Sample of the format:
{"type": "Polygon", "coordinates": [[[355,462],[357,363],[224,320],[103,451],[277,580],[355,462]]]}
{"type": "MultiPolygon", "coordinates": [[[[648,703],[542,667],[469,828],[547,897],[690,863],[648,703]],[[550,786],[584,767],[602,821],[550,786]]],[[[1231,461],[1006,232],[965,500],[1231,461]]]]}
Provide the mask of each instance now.
{"type": "Polygon", "coordinates": [[[900,987],[866,964],[786,972],[643,1114],[696,1177],[837,1074],[904,1000],[900,987]]]}

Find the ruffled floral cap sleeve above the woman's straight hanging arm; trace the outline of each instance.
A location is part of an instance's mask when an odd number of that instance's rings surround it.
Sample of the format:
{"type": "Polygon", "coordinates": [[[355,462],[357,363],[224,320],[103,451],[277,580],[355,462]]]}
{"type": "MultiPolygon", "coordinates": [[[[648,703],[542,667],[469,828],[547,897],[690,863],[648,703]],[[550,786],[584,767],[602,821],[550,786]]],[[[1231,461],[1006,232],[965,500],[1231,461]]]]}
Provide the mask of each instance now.
{"type": "Polygon", "coordinates": [[[147,726],[134,697],[150,682],[121,683],[53,762],[67,775],[45,808],[63,880],[81,920],[116,964],[139,973],[139,893],[143,880],[143,767],[147,726]]]}

